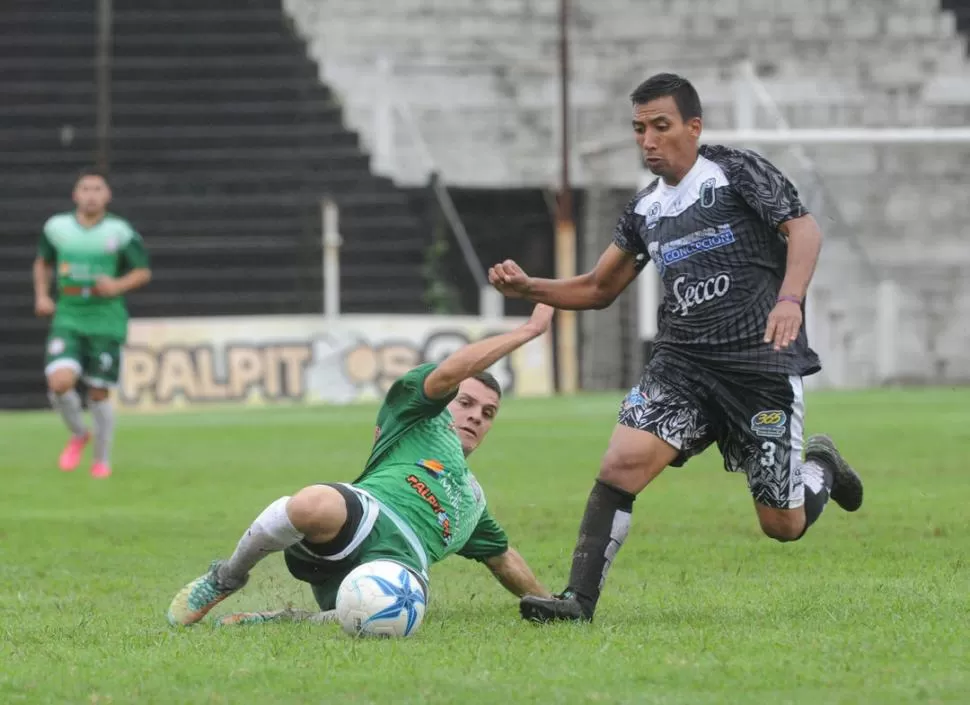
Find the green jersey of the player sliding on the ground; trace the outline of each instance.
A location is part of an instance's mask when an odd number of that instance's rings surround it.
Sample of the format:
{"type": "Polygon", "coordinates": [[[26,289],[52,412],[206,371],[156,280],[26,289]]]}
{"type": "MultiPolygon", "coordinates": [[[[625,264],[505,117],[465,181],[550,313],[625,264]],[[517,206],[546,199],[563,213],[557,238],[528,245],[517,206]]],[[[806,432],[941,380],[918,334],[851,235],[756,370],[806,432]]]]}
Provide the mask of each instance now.
{"type": "Polygon", "coordinates": [[[508,550],[485,506],[449,413],[451,394],[429,399],[425,364],[398,379],[377,414],[374,448],[354,485],[390,507],[413,530],[429,563],[457,553],[484,560],[508,550]]]}

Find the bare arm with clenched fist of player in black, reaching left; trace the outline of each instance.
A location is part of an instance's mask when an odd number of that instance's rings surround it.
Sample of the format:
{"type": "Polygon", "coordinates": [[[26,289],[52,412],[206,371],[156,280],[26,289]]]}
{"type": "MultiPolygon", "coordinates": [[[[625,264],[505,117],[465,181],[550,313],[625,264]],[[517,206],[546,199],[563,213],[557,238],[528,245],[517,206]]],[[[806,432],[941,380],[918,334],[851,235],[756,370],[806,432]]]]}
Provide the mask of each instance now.
{"type": "Polygon", "coordinates": [[[488,281],[502,294],[571,311],[606,308],[637,276],[637,255],[610,244],[596,266],[569,279],[530,277],[512,260],[488,271],[488,281]]]}

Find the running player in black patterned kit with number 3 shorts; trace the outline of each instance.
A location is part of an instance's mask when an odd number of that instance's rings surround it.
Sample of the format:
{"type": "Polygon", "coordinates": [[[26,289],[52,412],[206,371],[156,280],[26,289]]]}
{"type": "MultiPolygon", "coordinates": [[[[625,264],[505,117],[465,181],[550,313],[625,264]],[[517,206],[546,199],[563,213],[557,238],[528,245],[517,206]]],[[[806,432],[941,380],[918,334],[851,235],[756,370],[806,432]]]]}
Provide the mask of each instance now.
{"type": "Polygon", "coordinates": [[[698,146],[701,103],[689,81],[659,74],[631,99],[657,179],[624,209],[592,271],[536,279],[510,260],[489,271],[508,297],[573,310],[609,306],[651,262],[664,284],[654,354],[621,405],[569,586],[520,603],[537,622],[592,619],[637,494],[713,443],[726,470],[747,475],[761,528],[778,541],[801,538],[829,498],[850,512],[862,504],[862,482],[832,440],[802,442],[802,377],[820,369],[802,327],[818,224],[760,155],[698,146]]]}

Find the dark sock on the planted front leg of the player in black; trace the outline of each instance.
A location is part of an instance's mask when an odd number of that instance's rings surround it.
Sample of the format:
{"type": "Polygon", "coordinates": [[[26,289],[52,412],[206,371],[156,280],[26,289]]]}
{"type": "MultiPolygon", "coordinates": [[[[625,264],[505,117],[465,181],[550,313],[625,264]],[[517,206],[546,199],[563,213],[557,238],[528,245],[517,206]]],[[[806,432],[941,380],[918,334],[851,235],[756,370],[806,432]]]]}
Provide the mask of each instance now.
{"type": "Polygon", "coordinates": [[[606,572],[630,530],[634,499],[636,495],[600,480],[589,494],[573,551],[568,588],[589,616],[596,609],[606,572]]]}

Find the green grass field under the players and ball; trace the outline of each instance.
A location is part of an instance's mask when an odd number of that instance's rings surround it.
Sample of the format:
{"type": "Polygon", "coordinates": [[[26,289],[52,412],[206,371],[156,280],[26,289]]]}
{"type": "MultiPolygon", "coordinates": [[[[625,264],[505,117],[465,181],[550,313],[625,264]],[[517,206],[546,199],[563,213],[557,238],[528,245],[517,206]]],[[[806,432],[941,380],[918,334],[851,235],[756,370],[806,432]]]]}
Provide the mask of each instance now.
{"type": "MultiPolygon", "coordinates": [[[[472,459],[492,512],[560,589],[620,395],[510,400],[472,459]]],[[[593,625],[536,627],[452,558],[401,641],[334,625],[176,631],[176,590],[271,500],[351,479],[374,408],[122,417],[115,475],[57,471],[51,413],[0,415],[2,703],[968,703],[970,391],[809,397],[866,480],[808,536],[760,535],[709,451],[636,503],[593,625]]],[[[217,613],[309,589],[272,557],[217,613]]]]}

